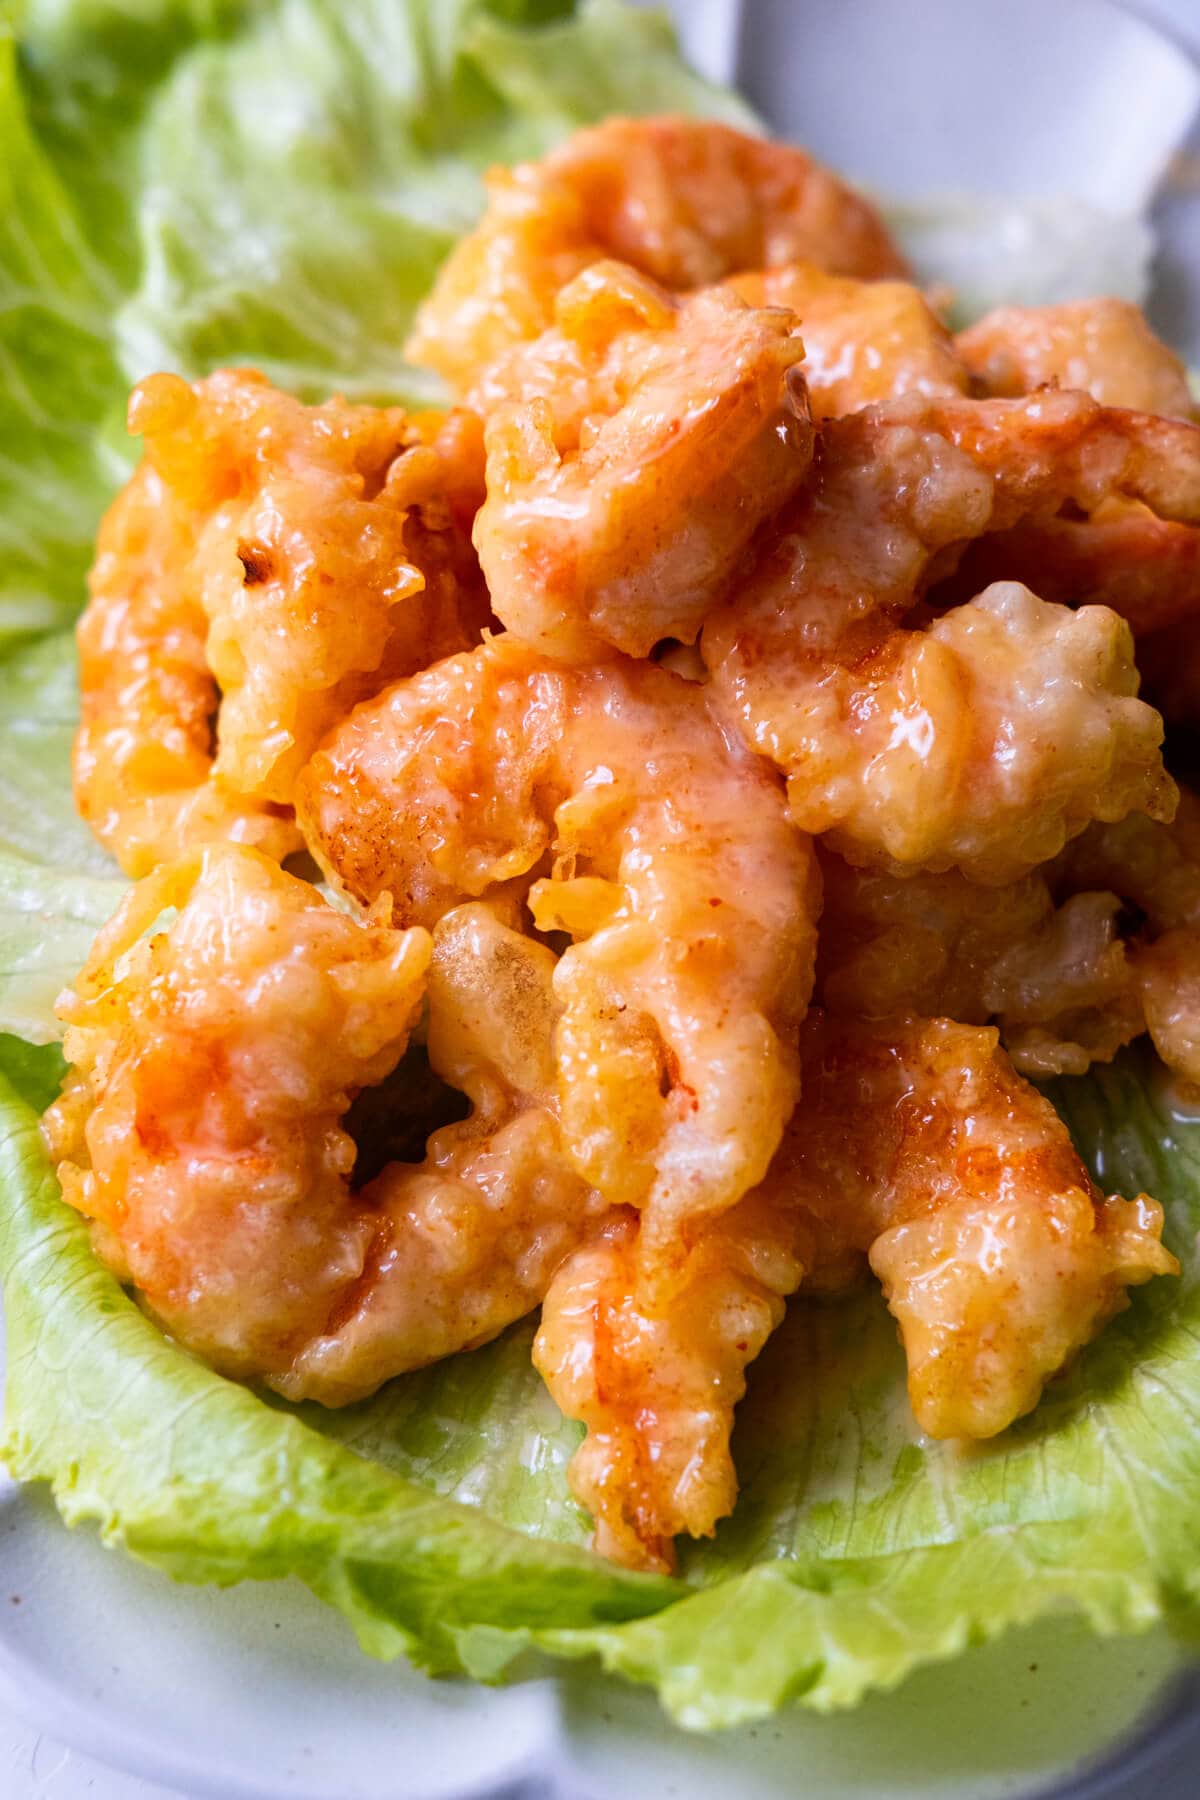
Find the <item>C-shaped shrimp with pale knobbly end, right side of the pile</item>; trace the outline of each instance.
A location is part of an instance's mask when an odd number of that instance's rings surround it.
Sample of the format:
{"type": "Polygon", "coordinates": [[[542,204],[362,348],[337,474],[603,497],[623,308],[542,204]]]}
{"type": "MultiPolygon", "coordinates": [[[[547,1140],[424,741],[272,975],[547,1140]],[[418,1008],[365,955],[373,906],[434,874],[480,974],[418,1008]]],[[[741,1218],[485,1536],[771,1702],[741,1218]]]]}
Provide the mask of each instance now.
{"type": "Polygon", "coordinates": [[[831,421],[702,655],[797,824],[851,860],[1011,880],[1088,819],[1169,815],[1128,626],[997,583],[901,630],[984,531],[1119,493],[1200,520],[1200,428],[1034,400],[905,400],[831,421]]]}

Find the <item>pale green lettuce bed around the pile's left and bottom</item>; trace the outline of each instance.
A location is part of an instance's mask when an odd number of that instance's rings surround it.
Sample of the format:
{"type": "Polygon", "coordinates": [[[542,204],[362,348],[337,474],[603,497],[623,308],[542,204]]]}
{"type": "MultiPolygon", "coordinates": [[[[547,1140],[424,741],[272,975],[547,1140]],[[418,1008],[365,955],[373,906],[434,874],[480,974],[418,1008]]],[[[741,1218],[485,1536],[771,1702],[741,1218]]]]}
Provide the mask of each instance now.
{"type": "Polygon", "coordinates": [[[736,1516],[680,1580],[626,1575],[583,1548],[529,1325],[329,1415],[212,1375],[92,1256],[36,1118],[54,992],[124,882],[70,806],[70,637],[13,648],[81,603],[131,380],[257,360],[421,401],[399,344],[482,167],[662,106],[745,117],[615,0],[25,0],[0,40],[4,1456],[178,1579],[297,1573],[372,1654],[482,1679],[599,1656],[716,1726],[853,1705],[1038,1615],[1193,1616],[1200,1123],[1137,1058],[1058,1089],[1103,1183],[1168,1204],[1184,1278],[1033,1418],[930,1444],[878,1294],[799,1303],[741,1408],[736,1516]]]}

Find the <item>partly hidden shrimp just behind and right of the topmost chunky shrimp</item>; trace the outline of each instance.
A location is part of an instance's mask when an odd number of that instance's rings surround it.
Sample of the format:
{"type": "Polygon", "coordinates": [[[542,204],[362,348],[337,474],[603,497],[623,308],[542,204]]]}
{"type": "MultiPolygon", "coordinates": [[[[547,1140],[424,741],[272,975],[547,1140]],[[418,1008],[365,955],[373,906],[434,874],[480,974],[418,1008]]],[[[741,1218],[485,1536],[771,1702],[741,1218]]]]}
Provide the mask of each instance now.
{"type": "Polygon", "coordinates": [[[964,394],[954,338],[909,281],[855,281],[815,263],[734,275],[750,306],[786,306],[804,338],[804,382],[815,419],[903,394],[964,394]]]}

